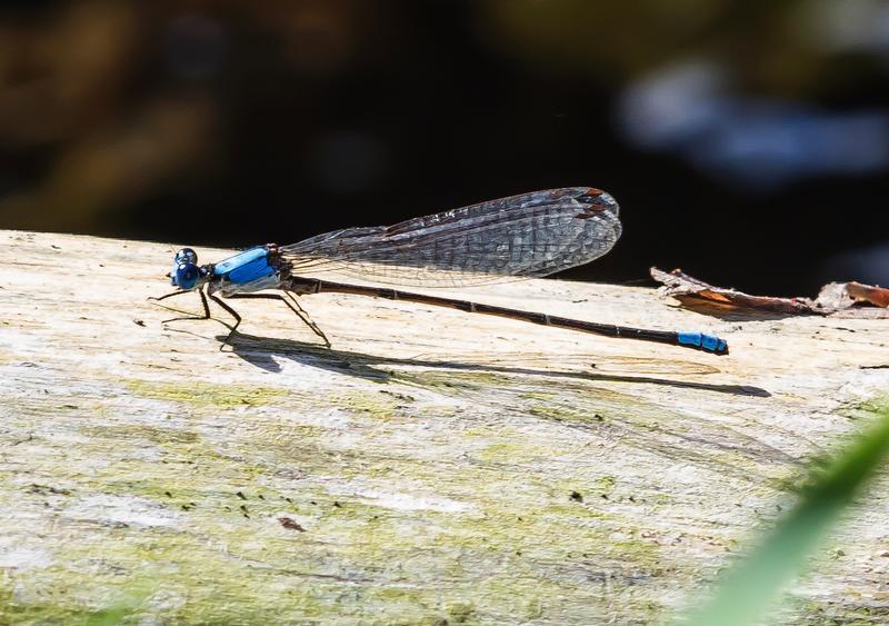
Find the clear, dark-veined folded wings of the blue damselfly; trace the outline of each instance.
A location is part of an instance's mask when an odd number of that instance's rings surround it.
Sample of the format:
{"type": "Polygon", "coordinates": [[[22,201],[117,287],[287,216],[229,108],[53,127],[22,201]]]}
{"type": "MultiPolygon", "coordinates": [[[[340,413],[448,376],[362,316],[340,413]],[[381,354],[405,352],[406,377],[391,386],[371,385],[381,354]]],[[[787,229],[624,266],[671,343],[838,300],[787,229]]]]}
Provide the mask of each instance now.
{"type": "Polygon", "coordinates": [[[589,187],[512,196],[393,226],[347,228],[280,248],[296,276],[452,287],[547,276],[598,259],[619,208],[589,187]]]}

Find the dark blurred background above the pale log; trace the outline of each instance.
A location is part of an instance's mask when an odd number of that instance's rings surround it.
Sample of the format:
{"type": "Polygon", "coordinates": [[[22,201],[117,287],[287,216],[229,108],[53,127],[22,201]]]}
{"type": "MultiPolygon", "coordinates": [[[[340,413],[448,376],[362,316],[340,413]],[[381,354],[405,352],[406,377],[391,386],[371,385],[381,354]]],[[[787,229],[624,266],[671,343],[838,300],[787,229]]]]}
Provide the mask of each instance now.
{"type": "Polygon", "coordinates": [[[572,278],[889,282],[886,2],[30,1],[0,49],[0,228],[246,247],[589,185],[625,233],[572,278]]]}

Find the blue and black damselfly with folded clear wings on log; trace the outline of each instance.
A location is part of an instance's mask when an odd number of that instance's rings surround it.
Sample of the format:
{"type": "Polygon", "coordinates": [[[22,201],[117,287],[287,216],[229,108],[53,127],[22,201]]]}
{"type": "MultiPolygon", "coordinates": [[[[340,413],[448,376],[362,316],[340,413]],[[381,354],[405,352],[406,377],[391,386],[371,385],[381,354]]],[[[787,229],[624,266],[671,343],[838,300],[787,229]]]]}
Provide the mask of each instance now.
{"type": "Polygon", "coordinates": [[[294,296],[324,291],[373,296],[728,354],[725,340],[702,332],[597,324],[359,284],[461,287],[547,276],[608,252],[621,233],[618,213],[618,203],[609,193],[576,187],[491,200],[393,226],[334,230],[290,246],[257,246],[203,266],[198,266],[194,250],[182,248],[168,275],[179,290],[158,299],[197,291],[203,305],[199,319],[209,319],[209,297],[234,318],[229,337],[240,325],[241,316],[219,296],[279,299],[328,347],[327,337],[294,296]],[[326,279],[332,276],[338,280],[326,279]],[[267,289],[280,292],[257,294],[267,289]]]}

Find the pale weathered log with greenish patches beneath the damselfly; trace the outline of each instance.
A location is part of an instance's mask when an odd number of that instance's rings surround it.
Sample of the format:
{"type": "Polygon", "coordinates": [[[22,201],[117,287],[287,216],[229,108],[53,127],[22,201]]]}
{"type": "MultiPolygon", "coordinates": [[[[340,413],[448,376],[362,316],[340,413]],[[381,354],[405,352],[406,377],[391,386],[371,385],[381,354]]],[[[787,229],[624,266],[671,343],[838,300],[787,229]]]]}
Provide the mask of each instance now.
{"type": "MultiPolygon", "coordinates": [[[[889,388],[885,320],[725,321],[556,280],[447,295],[731,354],[346,295],[301,299],[331,349],[247,301],[221,351],[219,321],[147,301],[172,246],[0,242],[0,623],[667,619],[889,388]]],[[[889,619],[886,486],[788,623],[889,619]]]]}

